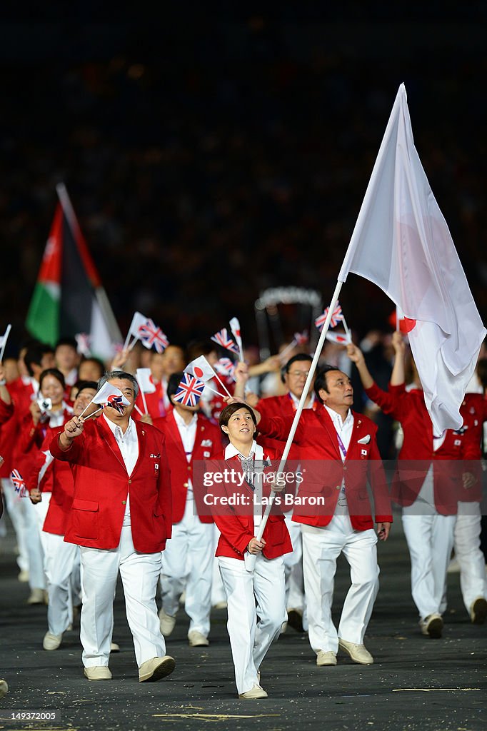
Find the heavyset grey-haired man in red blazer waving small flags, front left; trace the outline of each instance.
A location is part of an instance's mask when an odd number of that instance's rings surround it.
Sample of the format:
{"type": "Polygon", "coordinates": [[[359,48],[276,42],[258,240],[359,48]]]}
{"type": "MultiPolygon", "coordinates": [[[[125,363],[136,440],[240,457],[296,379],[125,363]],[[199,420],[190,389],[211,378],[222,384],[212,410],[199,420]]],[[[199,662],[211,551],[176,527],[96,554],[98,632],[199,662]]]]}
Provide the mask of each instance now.
{"type": "Polygon", "coordinates": [[[72,466],[74,498],[65,540],[80,545],[83,608],[80,640],[88,680],[110,680],[113,596],[118,571],[134,638],[139,681],[172,673],[156,607],[161,551],[171,535],[171,494],[164,436],[131,413],[137,380],[124,371],[100,379],[129,402],[106,407],[96,421],[73,417],[50,452],[72,466]]]}

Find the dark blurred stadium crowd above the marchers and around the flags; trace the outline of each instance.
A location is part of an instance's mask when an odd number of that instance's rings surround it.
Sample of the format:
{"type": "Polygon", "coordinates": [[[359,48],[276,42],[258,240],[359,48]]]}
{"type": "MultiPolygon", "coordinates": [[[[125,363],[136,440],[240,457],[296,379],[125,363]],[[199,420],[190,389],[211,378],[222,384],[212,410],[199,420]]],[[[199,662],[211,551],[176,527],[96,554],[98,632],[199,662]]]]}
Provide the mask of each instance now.
{"type": "MultiPolygon", "coordinates": [[[[231,15],[181,2],[91,20],[91,2],[79,13],[55,2],[4,19],[0,312],[12,355],[60,181],[123,335],[135,310],[177,344],[236,316],[258,347],[263,290],[315,289],[326,305],[401,82],[485,321],[486,3],[412,2],[407,15],[382,1],[297,5],[231,15]]],[[[358,338],[391,330],[374,285],[350,276],[340,301],[358,338]]],[[[280,314],[289,339],[303,311],[280,314]]]]}

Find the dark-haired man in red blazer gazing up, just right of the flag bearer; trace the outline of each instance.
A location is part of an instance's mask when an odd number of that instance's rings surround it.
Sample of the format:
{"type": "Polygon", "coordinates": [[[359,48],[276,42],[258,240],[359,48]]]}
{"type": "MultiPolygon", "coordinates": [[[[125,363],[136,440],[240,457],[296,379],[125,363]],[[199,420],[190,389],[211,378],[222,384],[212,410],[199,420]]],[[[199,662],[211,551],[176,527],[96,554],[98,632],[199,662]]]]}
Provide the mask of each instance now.
{"type": "MultiPolygon", "coordinates": [[[[352,412],[350,379],[334,366],[324,366],[317,373],[314,393],[322,406],[317,411],[303,411],[294,439],[301,450],[303,482],[293,520],[301,523],[303,534],[309,642],[317,654],[317,665],[336,665],[339,647],[354,662],[371,664],[374,659],[363,638],[379,588],[379,567],[367,480],[374,494],[380,539],[387,539],[392,522],[377,427],[367,417],[352,412]],[[315,507],[318,498],[322,507],[315,507]],[[341,552],[350,564],[352,586],[337,632],[331,605],[336,559],[341,552]]],[[[259,414],[257,423],[266,436],[284,441],[292,420],[292,416],[259,414]]]]}

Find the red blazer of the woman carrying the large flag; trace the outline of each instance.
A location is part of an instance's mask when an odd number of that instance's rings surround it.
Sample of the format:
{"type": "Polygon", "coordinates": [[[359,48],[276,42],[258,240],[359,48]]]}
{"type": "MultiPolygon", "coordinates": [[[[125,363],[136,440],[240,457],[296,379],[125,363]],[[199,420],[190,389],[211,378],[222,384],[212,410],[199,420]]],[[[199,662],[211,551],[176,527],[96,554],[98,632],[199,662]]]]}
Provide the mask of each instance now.
{"type": "MultiPolygon", "coordinates": [[[[265,458],[272,460],[270,466],[265,468],[265,472],[276,471],[279,466],[279,460],[276,459],[276,453],[272,450],[265,450],[265,458]]],[[[222,469],[234,469],[242,474],[241,461],[238,458],[225,460],[224,451],[219,455],[218,462],[207,463],[207,472],[222,472],[222,469]]],[[[230,482],[220,485],[219,494],[226,496],[234,495],[235,485],[230,482]]],[[[248,494],[250,505],[248,508],[241,507],[238,510],[233,507],[227,507],[226,510],[215,510],[214,520],[220,531],[218,545],[216,546],[215,556],[227,556],[228,558],[239,558],[243,561],[243,554],[249,541],[254,538],[254,514],[252,496],[253,491],[249,486],[243,487],[243,494],[248,494]],[[224,514],[223,514],[224,513],[224,514]]],[[[271,489],[269,483],[263,485],[263,495],[269,497],[271,489]]],[[[279,493],[278,493],[279,494],[279,493]]],[[[276,504],[273,507],[271,515],[265,524],[263,532],[265,540],[265,548],[263,554],[265,558],[277,558],[283,556],[284,553],[292,553],[292,543],[284,520],[284,515],[276,504]]]]}

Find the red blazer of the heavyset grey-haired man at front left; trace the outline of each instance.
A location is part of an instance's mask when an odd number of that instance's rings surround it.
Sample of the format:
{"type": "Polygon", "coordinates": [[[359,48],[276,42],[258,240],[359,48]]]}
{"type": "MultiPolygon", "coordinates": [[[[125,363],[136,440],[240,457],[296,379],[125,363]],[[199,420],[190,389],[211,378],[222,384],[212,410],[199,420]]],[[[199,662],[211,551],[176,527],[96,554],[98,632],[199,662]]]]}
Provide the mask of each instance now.
{"type": "Polygon", "coordinates": [[[117,548],[130,491],[135,549],[141,553],[164,550],[172,526],[165,438],[148,424],[135,422],[135,428],[139,456],[130,477],[104,418],[86,422],[67,452],[59,448],[58,435],[53,437],[50,452],[72,465],[75,481],[65,541],[88,548],[117,548]]]}

